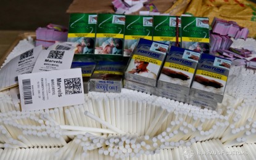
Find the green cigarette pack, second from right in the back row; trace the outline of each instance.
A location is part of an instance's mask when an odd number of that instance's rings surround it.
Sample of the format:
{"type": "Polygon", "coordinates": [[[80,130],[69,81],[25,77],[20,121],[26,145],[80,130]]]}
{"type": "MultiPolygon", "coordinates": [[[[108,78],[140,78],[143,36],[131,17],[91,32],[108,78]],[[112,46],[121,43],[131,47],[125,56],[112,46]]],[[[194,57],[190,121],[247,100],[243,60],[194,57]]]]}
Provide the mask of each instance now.
{"type": "Polygon", "coordinates": [[[153,19],[153,41],[162,42],[170,46],[180,46],[181,18],[154,15],[153,19]]]}

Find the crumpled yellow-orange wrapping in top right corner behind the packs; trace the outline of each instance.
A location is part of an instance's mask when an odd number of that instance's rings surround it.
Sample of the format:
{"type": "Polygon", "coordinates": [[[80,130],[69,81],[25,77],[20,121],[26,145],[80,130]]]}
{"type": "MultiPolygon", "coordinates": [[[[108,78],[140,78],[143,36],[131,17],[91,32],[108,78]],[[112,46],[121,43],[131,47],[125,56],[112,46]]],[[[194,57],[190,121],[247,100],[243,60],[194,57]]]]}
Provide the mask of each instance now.
{"type": "Polygon", "coordinates": [[[242,0],[178,0],[165,13],[192,14],[196,17],[214,17],[237,22],[249,29],[249,37],[256,38],[256,4],[242,0]]]}

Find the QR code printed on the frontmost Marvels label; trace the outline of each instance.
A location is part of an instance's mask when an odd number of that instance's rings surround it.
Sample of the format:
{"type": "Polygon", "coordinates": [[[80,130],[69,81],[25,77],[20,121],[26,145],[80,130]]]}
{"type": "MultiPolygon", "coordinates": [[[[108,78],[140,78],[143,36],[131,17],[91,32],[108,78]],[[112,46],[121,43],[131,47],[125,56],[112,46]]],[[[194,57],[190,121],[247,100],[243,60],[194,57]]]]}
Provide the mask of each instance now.
{"type": "Polygon", "coordinates": [[[82,93],[81,78],[64,79],[64,84],[66,95],[82,93]]]}

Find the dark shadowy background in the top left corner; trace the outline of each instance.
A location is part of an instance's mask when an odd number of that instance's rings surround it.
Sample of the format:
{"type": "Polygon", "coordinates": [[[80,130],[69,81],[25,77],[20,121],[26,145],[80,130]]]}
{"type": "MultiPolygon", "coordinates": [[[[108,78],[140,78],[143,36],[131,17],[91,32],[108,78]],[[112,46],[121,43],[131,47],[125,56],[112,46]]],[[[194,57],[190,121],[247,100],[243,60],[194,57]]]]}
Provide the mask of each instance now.
{"type": "Polygon", "coordinates": [[[66,10],[72,1],[1,0],[0,30],[33,31],[49,23],[68,26],[69,14],[66,10]]]}

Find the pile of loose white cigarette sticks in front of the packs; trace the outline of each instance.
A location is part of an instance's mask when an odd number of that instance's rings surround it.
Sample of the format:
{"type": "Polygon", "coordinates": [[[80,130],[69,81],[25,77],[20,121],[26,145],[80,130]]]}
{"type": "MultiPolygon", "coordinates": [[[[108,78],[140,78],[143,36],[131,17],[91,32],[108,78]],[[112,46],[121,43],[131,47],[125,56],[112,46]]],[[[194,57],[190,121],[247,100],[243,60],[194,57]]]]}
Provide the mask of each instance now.
{"type": "Polygon", "coordinates": [[[89,92],[83,105],[20,111],[0,92],[0,159],[256,158],[253,96],[225,95],[213,111],[123,89],[89,92]]]}

